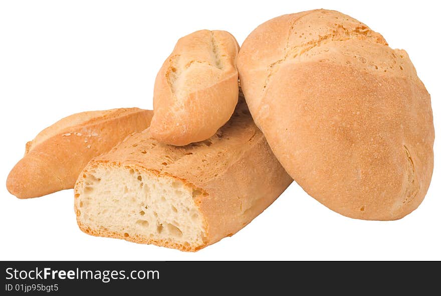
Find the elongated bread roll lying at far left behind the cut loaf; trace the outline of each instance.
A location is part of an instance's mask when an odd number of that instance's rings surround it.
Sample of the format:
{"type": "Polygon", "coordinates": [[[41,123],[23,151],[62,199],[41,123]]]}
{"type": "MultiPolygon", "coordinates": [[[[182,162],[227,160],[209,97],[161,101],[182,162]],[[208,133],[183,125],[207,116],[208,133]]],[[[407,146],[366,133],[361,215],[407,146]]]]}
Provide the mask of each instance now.
{"type": "Polygon", "coordinates": [[[152,113],[120,108],[61,119],[26,144],[25,156],[8,176],[9,192],[32,198],[73,188],[90,159],[108,152],[130,133],[147,128],[152,113]]]}

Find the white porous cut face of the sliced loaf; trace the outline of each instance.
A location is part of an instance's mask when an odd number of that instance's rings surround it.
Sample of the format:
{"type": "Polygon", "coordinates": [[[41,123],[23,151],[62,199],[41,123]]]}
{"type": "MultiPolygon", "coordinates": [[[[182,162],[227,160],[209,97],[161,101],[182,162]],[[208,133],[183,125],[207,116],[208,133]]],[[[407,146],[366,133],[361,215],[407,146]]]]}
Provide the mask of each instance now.
{"type": "Polygon", "coordinates": [[[182,251],[206,245],[198,189],[136,166],[89,166],[75,186],[75,210],[84,232],[182,251]]]}

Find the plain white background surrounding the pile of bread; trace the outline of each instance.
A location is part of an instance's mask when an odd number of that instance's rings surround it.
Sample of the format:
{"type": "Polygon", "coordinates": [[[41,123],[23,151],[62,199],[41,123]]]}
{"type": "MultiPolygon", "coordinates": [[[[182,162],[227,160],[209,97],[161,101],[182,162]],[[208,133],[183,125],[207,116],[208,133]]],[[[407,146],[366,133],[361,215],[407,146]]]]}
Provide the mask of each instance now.
{"type": "Polygon", "coordinates": [[[439,132],[439,10],[432,3],[0,2],[0,259],[440,260],[439,138],[426,198],[401,220],[343,217],[293,183],[239,233],[196,253],[89,236],[77,227],[72,190],[19,200],[5,186],[26,141],[60,118],[85,110],[152,108],[156,73],[179,37],[227,30],[242,44],[268,19],[316,8],[348,14],[392,48],[407,51],[431,94],[439,132]]]}

